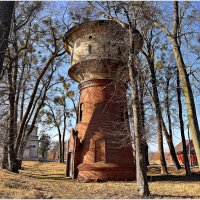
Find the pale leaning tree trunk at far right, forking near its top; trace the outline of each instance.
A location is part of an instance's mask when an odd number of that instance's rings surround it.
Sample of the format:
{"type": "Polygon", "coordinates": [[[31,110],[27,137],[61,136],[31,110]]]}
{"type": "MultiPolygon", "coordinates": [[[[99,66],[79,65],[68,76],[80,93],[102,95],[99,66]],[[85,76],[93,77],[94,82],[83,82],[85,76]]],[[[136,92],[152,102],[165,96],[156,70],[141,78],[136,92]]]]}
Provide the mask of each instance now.
{"type": "MultiPolygon", "coordinates": [[[[184,12],[185,13],[185,12],[184,12]]],[[[194,141],[194,148],[197,154],[198,163],[200,163],[200,131],[197,120],[195,102],[193,97],[193,92],[190,84],[190,80],[186,70],[186,64],[183,59],[182,51],[180,48],[179,38],[182,34],[186,35],[187,33],[181,32],[181,23],[183,22],[184,15],[180,16],[179,12],[179,2],[174,1],[173,3],[173,30],[170,30],[159,20],[153,20],[154,25],[159,27],[164,33],[166,33],[169,41],[172,44],[173,53],[175,57],[175,61],[177,64],[177,68],[179,71],[180,80],[182,83],[182,89],[185,96],[187,115],[190,132],[192,134],[192,138],[194,141]]],[[[200,165],[199,165],[200,167],[200,165]]]]}

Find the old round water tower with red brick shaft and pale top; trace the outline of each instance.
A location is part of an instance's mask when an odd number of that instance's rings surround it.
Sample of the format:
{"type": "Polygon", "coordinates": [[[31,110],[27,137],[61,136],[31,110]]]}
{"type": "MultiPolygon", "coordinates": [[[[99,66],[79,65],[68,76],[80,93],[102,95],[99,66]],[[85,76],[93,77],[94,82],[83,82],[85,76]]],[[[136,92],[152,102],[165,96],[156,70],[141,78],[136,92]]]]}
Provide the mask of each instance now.
{"type": "MultiPolygon", "coordinates": [[[[111,20],[85,22],[64,36],[71,55],[69,76],[80,90],[77,125],[67,148],[69,177],[135,179],[126,99],[127,41],[127,31],[111,20]]],[[[141,37],[137,44],[140,49],[141,37]]]]}

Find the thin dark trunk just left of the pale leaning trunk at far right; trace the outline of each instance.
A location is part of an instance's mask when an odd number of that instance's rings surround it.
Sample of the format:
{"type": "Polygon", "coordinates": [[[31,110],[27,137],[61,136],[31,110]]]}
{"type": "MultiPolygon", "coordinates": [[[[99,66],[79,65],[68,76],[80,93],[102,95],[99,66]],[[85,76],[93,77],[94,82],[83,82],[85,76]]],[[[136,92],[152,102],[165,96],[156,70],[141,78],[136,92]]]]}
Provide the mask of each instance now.
{"type": "Polygon", "coordinates": [[[179,110],[179,122],[180,122],[180,131],[181,131],[181,139],[183,144],[183,156],[184,156],[184,165],[186,175],[190,175],[190,165],[188,161],[187,147],[185,142],[185,133],[184,133],[184,123],[183,123],[183,114],[182,114],[182,103],[181,103],[181,88],[180,88],[180,79],[177,71],[177,100],[178,100],[178,110],[179,110]]]}

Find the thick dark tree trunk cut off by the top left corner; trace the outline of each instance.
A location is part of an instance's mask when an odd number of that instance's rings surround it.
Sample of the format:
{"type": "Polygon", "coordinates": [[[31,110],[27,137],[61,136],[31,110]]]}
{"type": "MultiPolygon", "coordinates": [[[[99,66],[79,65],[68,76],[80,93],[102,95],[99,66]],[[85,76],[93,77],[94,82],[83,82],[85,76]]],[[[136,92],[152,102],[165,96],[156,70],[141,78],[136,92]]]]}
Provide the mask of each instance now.
{"type": "Polygon", "coordinates": [[[5,50],[8,47],[14,5],[14,1],[0,1],[0,75],[2,73],[5,50]]]}

